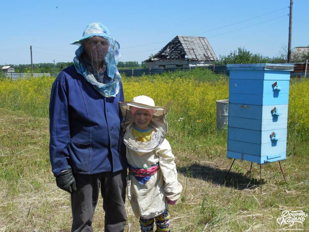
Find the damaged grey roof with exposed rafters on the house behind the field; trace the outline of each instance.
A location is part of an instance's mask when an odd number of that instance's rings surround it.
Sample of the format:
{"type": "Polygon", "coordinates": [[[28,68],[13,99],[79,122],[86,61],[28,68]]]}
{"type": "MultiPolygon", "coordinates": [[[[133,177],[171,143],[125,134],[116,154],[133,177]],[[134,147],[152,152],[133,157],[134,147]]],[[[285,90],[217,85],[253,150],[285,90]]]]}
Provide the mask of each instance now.
{"type": "Polygon", "coordinates": [[[153,58],[145,60],[218,60],[206,37],[176,36],[163,47],[153,58]]]}

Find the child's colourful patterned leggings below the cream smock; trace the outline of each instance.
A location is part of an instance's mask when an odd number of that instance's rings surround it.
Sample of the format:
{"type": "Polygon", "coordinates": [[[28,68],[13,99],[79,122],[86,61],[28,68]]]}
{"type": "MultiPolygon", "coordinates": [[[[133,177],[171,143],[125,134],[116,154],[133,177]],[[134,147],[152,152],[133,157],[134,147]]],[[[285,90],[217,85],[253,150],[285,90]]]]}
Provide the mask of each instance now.
{"type": "Polygon", "coordinates": [[[154,230],[154,221],[157,225],[157,232],[168,232],[170,231],[170,215],[168,209],[155,218],[146,219],[143,217],[139,218],[142,232],[149,232],[154,230]]]}

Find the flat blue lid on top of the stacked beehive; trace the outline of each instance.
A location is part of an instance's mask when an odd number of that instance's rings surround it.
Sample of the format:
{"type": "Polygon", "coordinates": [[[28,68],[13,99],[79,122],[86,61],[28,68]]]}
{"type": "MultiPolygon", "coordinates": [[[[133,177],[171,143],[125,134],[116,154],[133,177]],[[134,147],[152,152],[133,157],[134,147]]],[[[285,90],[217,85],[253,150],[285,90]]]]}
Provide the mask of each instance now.
{"type": "Polygon", "coordinates": [[[293,64],[227,64],[226,70],[282,70],[293,71],[293,64]]]}

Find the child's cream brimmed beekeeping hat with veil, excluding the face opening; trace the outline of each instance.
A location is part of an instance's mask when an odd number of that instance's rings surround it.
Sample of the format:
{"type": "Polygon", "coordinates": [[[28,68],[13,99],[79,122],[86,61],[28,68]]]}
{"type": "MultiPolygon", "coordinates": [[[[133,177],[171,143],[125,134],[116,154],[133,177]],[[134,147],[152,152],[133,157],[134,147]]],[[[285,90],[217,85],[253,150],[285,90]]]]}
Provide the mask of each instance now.
{"type": "Polygon", "coordinates": [[[166,121],[168,112],[165,107],[155,106],[152,98],[143,95],[134,97],[133,101],[121,101],[119,105],[121,113],[125,118],[121,123],[121,128],[124,131],[124,143],[128,148],[137,152],[147,153],[153,151],[163,143],[168,130],[166,121]],[[153,116],[149,123],[150,127],[153,128],[153,132],[148,142],[136,141],[132,136],[134,125],[134,119],[131,113],[132,107],[153,110],[153,116]]]}

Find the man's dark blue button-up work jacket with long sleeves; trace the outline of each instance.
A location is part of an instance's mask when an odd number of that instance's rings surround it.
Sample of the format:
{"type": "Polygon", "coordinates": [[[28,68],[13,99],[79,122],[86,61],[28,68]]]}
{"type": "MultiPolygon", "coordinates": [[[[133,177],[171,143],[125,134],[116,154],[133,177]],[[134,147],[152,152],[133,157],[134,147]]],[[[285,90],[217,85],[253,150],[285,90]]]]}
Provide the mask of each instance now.
{"type": "Polygon", "coordinates": [[[49,157],[55,176],[72,168],[94,174],[127,168],[119,101],[104,97],[71,65],[55,79],[49,103],[49,157]]]}

